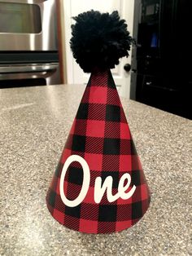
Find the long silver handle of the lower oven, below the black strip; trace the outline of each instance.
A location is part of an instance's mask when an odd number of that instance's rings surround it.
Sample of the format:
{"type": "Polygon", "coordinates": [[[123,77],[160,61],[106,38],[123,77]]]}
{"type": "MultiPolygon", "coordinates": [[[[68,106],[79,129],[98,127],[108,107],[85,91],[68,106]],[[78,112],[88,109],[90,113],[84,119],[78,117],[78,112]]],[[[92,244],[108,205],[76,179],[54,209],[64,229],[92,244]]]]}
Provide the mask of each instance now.
{"type": "Polygon", "coordinates": [[[0,74],[49,72],[54,71],[58,67],[59,64],[3,65],[0,66],[0,74]]]}

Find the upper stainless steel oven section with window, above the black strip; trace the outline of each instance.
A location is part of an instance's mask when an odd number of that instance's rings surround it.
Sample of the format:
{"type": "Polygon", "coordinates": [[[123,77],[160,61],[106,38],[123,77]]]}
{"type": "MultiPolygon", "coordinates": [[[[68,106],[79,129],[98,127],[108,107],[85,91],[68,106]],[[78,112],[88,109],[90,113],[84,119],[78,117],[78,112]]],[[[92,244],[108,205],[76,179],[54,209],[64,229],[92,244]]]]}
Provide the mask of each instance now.
{"type": "Polygon", "coordinates": [[[0,51],[57,50],[55,0],[0,0],[0,51]]]}

